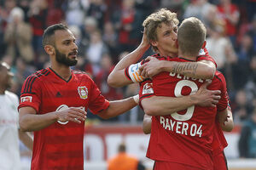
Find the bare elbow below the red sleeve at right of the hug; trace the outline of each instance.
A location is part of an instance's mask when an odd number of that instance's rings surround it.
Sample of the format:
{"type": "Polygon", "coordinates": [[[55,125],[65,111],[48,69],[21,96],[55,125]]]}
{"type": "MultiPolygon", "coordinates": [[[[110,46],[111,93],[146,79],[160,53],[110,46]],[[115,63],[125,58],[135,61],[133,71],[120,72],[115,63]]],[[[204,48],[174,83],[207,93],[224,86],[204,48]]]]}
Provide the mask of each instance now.
{"type": "Polygon", "coordinates": [[[224,111],[218,113],[217,116],[222,130],[225,132],[231,132],[234,128],[234,122],[230,107],[227,107],[224,111]]]}

